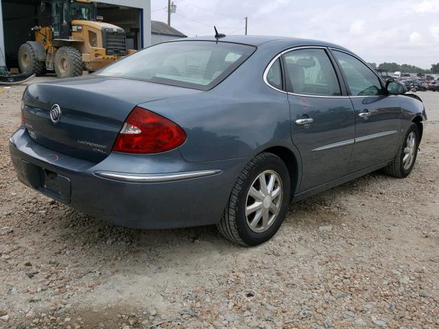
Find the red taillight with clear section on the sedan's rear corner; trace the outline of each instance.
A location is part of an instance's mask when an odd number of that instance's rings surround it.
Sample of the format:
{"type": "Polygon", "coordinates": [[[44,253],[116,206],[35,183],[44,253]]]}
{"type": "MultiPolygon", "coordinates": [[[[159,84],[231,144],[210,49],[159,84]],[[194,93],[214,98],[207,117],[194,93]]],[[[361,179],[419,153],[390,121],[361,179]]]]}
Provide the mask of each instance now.
{"type": "Polygon", "coordinates": [[[125,153],[159,153],[185,143],[186,133],[176,123],[160,115],[135,107],[128,115],[113,151],[125,153]]]}

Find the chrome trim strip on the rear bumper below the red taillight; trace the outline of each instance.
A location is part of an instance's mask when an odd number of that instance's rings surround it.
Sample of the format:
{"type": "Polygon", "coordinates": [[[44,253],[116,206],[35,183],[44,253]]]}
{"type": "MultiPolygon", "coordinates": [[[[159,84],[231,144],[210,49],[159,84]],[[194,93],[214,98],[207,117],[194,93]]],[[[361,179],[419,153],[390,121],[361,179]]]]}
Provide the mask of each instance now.
{"type": "Polygon", "coordinates": [[[178,180],[189,180],[191,178],[200,178],[222,173],[221,170],[204,170],[188,171],[185,173],[158,173],[136,175],[131,173],[114,173],[111,171],[95,171],[95,175],[111,180],[134,183],[157,183],[157,182],[175,182],[178,180]]]}

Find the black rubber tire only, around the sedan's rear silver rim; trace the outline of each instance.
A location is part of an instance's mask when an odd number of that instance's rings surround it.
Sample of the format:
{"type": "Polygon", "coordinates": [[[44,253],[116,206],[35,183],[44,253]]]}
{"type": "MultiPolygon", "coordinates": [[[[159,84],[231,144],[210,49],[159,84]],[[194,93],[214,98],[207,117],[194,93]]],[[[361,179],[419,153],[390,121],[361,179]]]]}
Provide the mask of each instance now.
{"type": "MultiPolygon", "coordinates": [[[[228,240],[240,245],[259,245],[276,234],[281,226],[290,200],[291,181],[285,163],[271,153],[261,153],[252,158],[233,186],[224,215],[217,225],[219,232],[228,240]],[[248,192],[264,171],[272,171],[281,181],[282,199],[272,223],[263,232],[254,232],[246,219],[248,192]]],[[[271,202],[271,201],[270,201],[271,202]]]]}

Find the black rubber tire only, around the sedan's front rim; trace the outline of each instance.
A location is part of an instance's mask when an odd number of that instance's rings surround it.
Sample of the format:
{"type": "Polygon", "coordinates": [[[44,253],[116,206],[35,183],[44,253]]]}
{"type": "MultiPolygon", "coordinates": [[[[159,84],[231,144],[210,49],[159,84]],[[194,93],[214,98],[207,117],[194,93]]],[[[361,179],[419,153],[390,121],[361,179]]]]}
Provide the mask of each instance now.
{"type": "Polygon", "coordinates": [[[413,169],[414,162],[416,162],[416,156],[418,156],[418,146],[420,142],[419,129],[416,123],[412,123],[404,135],[403,141],[401,141],[401,145],[396,152],[396,156],[386,167],[384,167],[383,171],[385,174],[390,175],[396,178],[405,178],[407,177],[413,169]],[[414,150],[414,158],[412,160],[412,164],[408,168],[404,168],[403,158],[404,158],[404,149],[407,147],[407,138],[411,133],[414,133],[416,136],[416,148],[414,150]]]}

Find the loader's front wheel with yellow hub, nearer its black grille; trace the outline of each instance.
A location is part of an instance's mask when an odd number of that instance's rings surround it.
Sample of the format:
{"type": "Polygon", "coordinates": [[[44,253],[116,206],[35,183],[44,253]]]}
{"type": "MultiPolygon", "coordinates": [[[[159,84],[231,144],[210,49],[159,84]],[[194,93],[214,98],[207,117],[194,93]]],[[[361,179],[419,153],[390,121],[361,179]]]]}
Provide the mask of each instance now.
{"type": "Polygon", "coordinates": [[[61,47],[55,53],[57,77],[79,77],[82,75],[82,53],[73,47],[61,47]]]}

